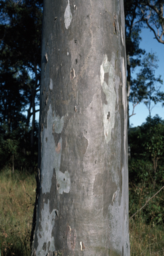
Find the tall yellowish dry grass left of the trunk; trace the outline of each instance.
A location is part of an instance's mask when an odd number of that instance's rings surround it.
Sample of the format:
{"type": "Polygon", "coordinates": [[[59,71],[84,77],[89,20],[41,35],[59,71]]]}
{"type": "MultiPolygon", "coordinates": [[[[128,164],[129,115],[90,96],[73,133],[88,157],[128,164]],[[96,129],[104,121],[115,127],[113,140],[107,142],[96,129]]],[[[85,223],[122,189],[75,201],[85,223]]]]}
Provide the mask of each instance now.
{"type": "Polygon", "coordinates": [[[29,256],[35,202],[35,175],[0,172],[1,256],[29,256]]]}

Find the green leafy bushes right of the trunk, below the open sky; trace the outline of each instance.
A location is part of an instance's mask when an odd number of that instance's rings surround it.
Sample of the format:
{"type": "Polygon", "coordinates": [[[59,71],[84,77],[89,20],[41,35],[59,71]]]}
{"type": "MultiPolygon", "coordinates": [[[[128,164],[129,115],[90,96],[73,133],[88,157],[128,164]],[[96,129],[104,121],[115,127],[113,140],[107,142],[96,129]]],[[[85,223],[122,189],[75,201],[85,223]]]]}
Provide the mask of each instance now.
{"type": "MultiPolygon", "coordinates": [[[[141,127],[129,132],[129,214],[137,212],[164,185],[164,121],[147,117],[141,127]]],[[[161,191],[139,212],[145,223],[164,223],[164,196],[161,191]]]]}

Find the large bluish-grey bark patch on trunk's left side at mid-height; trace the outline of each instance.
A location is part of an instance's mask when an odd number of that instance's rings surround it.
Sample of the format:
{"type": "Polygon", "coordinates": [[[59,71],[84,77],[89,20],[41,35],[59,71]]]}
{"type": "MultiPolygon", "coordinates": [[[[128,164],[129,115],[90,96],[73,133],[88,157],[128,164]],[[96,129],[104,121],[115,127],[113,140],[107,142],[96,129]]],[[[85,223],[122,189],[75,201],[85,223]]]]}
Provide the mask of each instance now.
{"type": "Polygon", "coordinates": [[[58,182],[58,193],[69,193],[70,174],[68,171],[60,171],[60,161],[62,155],[62,138],[55,145],[53,133],[61,133],[64,126],[64,117],[52,115],[52,107],[47,112],[47,128],[42,131],[42,162],[41,162],[41,187],[42,193],[49,193],[52,185],[53,170],[56,172],[58,182]]]}

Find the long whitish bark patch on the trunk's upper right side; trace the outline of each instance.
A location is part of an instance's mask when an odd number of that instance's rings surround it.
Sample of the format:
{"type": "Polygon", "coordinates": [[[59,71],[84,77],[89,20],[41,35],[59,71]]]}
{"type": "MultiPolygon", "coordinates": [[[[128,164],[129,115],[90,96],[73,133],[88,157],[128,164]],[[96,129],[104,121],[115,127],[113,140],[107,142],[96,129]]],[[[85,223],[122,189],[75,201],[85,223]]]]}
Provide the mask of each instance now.
{"type": "Polygon", "coordinates": [[[115,69],[114,69],[115,55],[112,53],[112,60],[109,62],[107,55],[105,55],[102,65],[100,66],[100,81],[102,89],[106,94],[107,104],[103,105],[104,109],[104,136],[106,143],[111,139],[111,131],[115,123],[115,106],[116,106],[116,92],[115,92],[115,69]],[[105,74],[108,73],[108,84],[104,80],[105,74]]]}

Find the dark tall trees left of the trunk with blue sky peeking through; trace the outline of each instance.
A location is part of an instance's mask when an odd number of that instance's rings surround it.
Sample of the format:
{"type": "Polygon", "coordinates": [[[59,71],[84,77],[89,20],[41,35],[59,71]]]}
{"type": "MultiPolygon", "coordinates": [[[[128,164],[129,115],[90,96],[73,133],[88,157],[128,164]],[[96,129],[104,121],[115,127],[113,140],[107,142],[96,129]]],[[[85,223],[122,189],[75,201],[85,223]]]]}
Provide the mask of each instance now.
{"type": "Polygon", "coordinates": [[[25,141],[31,125],[30,147],[24,143],[23,150],[31,155],[33,167],[41,77],[42,1],[0,1],[0,10],[1,125],[8,123],[7,132],[11,133],[20,126],[19,121],[26,123],[25,141]]]}

